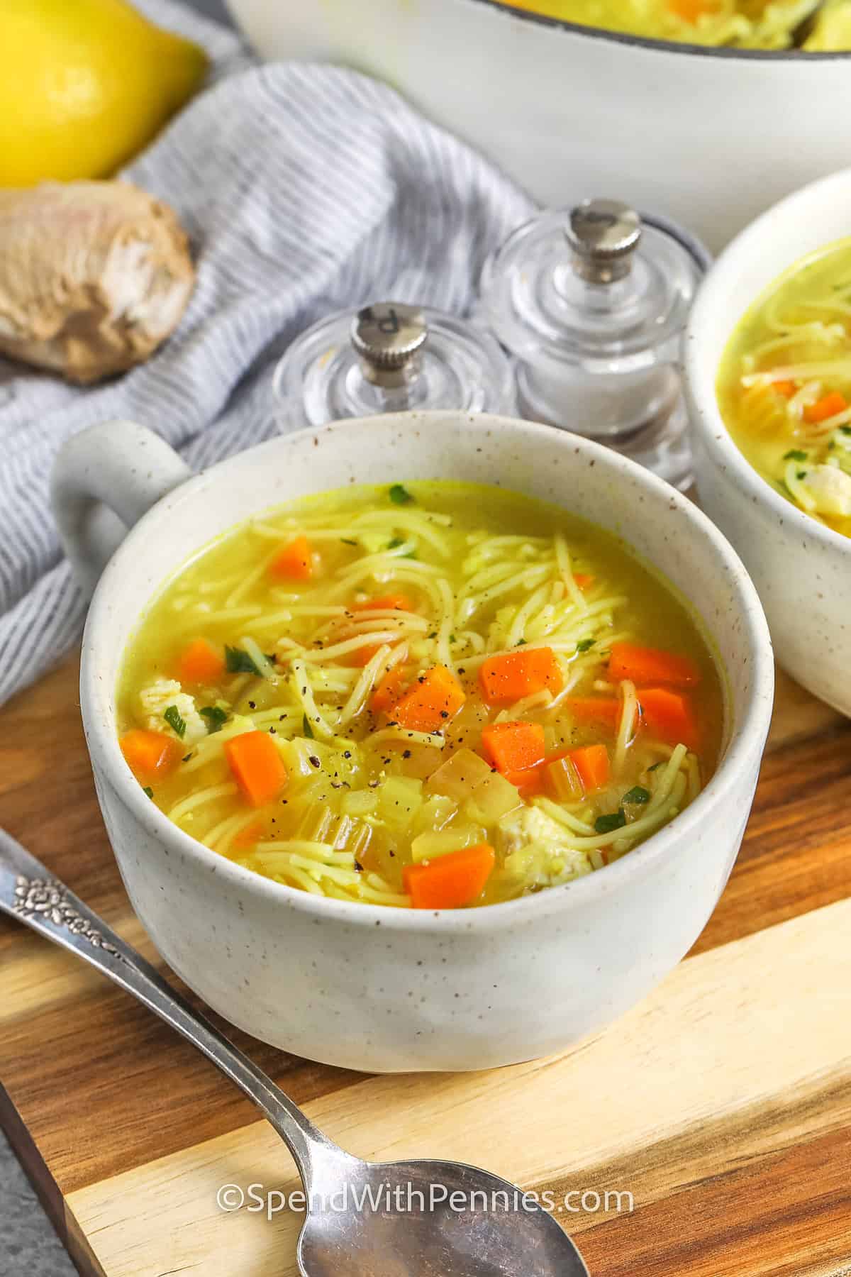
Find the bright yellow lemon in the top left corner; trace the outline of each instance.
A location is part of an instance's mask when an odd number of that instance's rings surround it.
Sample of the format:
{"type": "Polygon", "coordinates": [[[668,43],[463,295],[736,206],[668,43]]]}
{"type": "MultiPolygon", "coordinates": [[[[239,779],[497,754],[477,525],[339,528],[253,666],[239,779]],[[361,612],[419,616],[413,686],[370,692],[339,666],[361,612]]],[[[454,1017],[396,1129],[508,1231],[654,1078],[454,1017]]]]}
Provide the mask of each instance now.
{"type": "Polygon", "coordinates": [[[108,176],[205,70],[203,49],[125,0],[1,0],[0,186],[108,176]]]}

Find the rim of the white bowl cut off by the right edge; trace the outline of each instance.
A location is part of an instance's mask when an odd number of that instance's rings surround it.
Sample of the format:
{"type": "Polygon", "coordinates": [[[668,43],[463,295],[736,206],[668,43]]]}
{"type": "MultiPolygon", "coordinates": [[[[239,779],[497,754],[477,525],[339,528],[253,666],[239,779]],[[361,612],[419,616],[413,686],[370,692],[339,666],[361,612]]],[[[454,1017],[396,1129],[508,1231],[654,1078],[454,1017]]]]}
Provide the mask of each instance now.
{"type": "MultiPolygon", "coordinates": [[[[791,501],[781,497],[758,470],[751,466],[744,452],[734,441],[726,421],[718,407],[716,393],[716,378],[718,374],[718,361],[711,369],[703,356],[703,333],[711,333],[717,327],[713,314],[718,310],[730,313],[730,308],[723,305],[725,281],[727,276],[735,277],[735,264],[740,261],[751,259],[763,252],[768,239],[777,236],[778,217],[787,217],[788,221],[800,221],[805,217],[813,203],[828,202],[834,198],[834,188],[845,189],[851,213],[851,169],[842,169],[840,172],[829,174],[818,181],[809,183],[799,190],[786,195],[778,203],[760,213],[734,240],[720,253],[714,264],[707,272],[698,296],[692,308],[685,328],[685,377],[692,401],[690,414],[693,428],[700,432],[707,450],[723,472],[736,485],[744,498],[758,504],[767,506],[772,513],[777,515],[781,522],[787,521],[791,527],[797,529],[811,541],[823,545],[831,553],[845,554],[851,558],[851,536],[837,533],[833,527],[820,524],[805,511],[800,510],[791,501]]],[[[831,241],[825,240],[827,248],[831,241]]],[[[804,254],[806,255],[806,254],[804,254]]],[[[795,258],[781,267],[777,275],[795,264],[795,258]]],[[[754,298],[751,300],[755,301],[754,298]]],[[[737,315],[730,324],[726,344],[730,341],[736,326],[741,322],[743,314],[737,315]]],[[[851,567],[851,564],[850,564],[851,567]]]]}

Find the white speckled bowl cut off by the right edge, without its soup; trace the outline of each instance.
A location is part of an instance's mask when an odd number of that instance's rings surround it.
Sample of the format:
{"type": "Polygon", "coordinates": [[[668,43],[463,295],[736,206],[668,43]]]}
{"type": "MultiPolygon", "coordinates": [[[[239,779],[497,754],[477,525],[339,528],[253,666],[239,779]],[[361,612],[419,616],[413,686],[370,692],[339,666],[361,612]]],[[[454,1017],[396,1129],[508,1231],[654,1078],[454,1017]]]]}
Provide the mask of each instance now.
{"type": "Polygon", "coordinates": [[[777,659],[851,716],[851,538],[774,492],[739,451],[716,378],[734,327],[801,257],[851,232],[851,169],[757,218],[707,275],[688,326],[685,373],[700,504],[741,554],[766,608],[777,659]]]}

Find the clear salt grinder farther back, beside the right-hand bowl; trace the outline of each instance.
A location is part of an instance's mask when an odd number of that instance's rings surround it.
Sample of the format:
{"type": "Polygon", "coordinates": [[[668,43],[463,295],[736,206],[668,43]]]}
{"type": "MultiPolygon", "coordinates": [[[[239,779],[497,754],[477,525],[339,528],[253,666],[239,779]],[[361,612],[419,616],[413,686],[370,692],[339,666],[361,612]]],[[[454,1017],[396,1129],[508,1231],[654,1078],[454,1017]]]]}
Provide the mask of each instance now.
{"type": "Polygon", "coordinates": [[[477,315],[515,359],[521,415],[688,488],[681,342],[709,263],[688,232],[614,199],[518,227],[485,266],[477,315]]]}

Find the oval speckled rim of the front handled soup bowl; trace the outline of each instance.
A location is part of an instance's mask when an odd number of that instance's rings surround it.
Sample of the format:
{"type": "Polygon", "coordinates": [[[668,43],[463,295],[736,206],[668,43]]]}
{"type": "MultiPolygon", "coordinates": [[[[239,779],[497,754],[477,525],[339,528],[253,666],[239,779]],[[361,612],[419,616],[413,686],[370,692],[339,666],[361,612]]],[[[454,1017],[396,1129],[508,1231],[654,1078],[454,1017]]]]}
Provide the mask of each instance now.
{"type": "MultiPolygon", "coordinates": [[[[501,931],[513,925],[528,922],[533,918],[544,918],[566,909],[582,909],[595,902],[614,895],[618,891],[629,890],[629,885],[638,875],[651,871],[661,859],[670,854],[676,854],[688,848],[689,836],[708,817],[717,819],[725,810],[725,803],[732,797],[739,787],[741,774],[753,765],[754,755],[759,756],[764,747],[771,723],[774,686],[774,663],[772,655],[768,624],[757,595],[757,590],[748,576],[748,572],[718,529],[709,518],[697,508],[686,497],[671,488],[665,480],[643,470],[626,457],[605,448],[581,435],[560,432],[564,437],[565,453],[578,458],[578,462],[587,461],[600,465],[615,472],[615,479],[629,478],[637,481],[646,490],[657,498],[666,499],[669,506],[676,510],[681,517],[697,526],[706,544],[706,552],[714,563],[712,570],[721,572],[726,568],[731,587],[737,594],[737,612],[743,623],[741,644],[744,659],[751,667],[751,684],[746,702],[741,710],[737,723],[734,723],[732,732],[718,764],[714,775],[706,788],[692,802],[685,811],[666,825],[658,833],[651,835],[628,856],[606,866],[605,870],[588,873],[565,884],[561,888],[547,888],[535,895],[522,896],[517,900],[508,900],[500,904],[490,904],[477,909],[444,909],[444,911],[417,911],[404,909],[394,905],[374,905],[361,902],[337,900],[328,896],[313,895],[300,891],[286,884],[276,882],[263,877],[251,870],[235,865],[232,861],[218,856],[204,847],[191,835],[180,830],[168,817],[159,811],[138,784],[129,766],[126,765],[119,747],[119,737],[115,729],[115,688],[105,687],[98,677],[98,669],[105,667],[101,660],[102,649],[108,645],[110,617],[108,607],[114,582],[122,573],[124,563],[144,548],[145,543],[162,531],[163,522],[171,517],[175,507],[191,499],[198,492],[209,490],[211,485],[227,481],[231,470],[246,464],[246,457],[253,457],[254,464],[263,464],[267,456],[277,455],[281,462],[281,451],[304,446],[307,439],[316,446],[319,438],[346,430],[362,430],[367,441],[376,425],[388,427],[404,420],[408,423],[416,415],[417,420],[427,423],[445,421],[449,419],[457,425],[463,414],[452,411],[417,412],[417,414],[387,414],[380,418],[362,418],[361,420],[336,421],[315,428],[309,427],[287,435],[278,435],[264,443],[256,444],[245,452],[236,453],[217,465],[203,470],[185,483],[180,484],[171,493],[153,506],[130,530],[126,539],[112,555],[103,576],[94,593],[89,608],[85,632],[83,636],[83,653],[80,663],[80,705],[85,739],[93,761],[100,765],[102,773],[115,790],[119,799],[129,808],[133,817],[157,842],[168,847],[172,853],[196,862],[205,867],[228,888],[259,896],[265,896],[277,902],[282,908],[297,909],[313,916],[318,923],[343,923],[347,926],[362,927],[388,927],[393,931],[413,931],[417,933],[433,932],[447,935],[459,931],[477,930],[482,932],[501,931]]],[[[482,430],[509,430],[514,435],[523,438],[528,447],[535,447],[538,438],[552,438],[552,427],[538,425],[531,421],[522,421],[515,418],[478,416],[467,418],[466,435],[477,429],[482,430]]],[[[591,520],[593,522],[593,520],[591,520]]],[[[629,543],[628,543],[629,544],[629,543]]],[[[714,635],[708,630],[709,637],[714,635]]],[[[721,669],[722,679],[726,677],[721,669]]]]}

